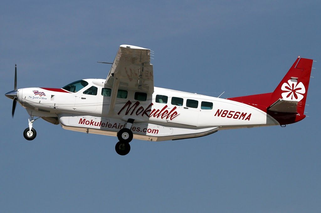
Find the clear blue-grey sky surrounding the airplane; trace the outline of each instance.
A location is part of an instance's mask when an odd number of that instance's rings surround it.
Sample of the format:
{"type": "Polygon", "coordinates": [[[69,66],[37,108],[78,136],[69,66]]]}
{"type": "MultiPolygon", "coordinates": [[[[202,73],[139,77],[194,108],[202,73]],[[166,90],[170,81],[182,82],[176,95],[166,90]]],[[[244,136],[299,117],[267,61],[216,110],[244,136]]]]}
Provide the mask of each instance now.
{"type": "Polygon", "coordinates": [[[0,212],[320,212],[319,1],[2,1],[0,212]],[[237,97],[272,92],[297,56],[313,64],[297,124],[188,140],[63,130],[4,96],[107,77],[118,47],[150,48],[154,85],[237,97]]]}

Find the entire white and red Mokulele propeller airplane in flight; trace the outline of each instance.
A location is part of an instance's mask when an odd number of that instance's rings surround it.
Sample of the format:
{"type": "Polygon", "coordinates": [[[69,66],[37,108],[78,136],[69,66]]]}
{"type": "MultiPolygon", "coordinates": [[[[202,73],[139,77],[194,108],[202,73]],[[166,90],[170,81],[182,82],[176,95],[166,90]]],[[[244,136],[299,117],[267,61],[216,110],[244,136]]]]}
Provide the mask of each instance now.
{"type": "Polygon", "coordinates": [[[14,90],[5,96],[13,99],[12,117],[17,102],[30,115],[23,132],[29,141],[37,135],[33,123],[42,118],[66,130],[117,136],[115,150],[126,155],[133,138],[180,140],[301,121],[312,63],[299,56],[273,92],[216,98],[154,87],[151,50],[121,45],[106,79],[17,89],[15,66],[14,90]]]}

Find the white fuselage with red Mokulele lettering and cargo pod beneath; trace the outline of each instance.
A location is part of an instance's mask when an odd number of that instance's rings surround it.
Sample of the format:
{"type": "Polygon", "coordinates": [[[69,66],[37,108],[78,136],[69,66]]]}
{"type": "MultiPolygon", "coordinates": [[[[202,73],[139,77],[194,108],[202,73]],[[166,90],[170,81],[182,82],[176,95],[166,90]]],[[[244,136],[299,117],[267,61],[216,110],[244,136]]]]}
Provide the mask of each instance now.
{"type": "Polygon", "coordinates": [[[158,87],[154,87],[153,94],[146,95],[146,100],[136,97],[135,92],[139,91],[123,88],[127,97],[119,95],[114,110],[109,110],[110,96],[102,95],[103,88],[110,88],[104,85],[105,80],[85,81],[89,84],[77,92],[19,89],[18,102],[31,116],[57,118],[64,129],[80,132],[116,136],[128,119],[134,119],[131,128],[134,138],[149,141],[200,137],[222,129],[279,125],[270,115],[247,104],[158,87]],[[97,94],[84,94],[92,86],[97,88],[97,94]]]}

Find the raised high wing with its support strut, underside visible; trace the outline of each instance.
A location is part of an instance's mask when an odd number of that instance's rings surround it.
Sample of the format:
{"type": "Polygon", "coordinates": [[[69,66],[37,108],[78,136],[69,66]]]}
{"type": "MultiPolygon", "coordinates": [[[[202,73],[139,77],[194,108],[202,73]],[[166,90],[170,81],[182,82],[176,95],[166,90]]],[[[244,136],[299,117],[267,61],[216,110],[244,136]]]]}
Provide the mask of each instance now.
{"type": "Polygon", "coordinates": [[[111,66],[105,85],[112,87],[109,114],[114,114],[119,87],[146,93],[154,92],[151,50],[132,45],[121,45],[111,66]]]}

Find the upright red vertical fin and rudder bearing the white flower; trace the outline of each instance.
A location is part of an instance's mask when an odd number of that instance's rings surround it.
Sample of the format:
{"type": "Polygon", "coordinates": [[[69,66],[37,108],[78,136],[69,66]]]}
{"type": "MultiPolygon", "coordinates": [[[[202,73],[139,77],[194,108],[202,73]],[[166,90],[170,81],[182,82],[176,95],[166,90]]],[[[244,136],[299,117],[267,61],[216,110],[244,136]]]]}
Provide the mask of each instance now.
{"type": "Polygon", "coordinates": [[[277,101],[279,98],[298,101],[298,113],[303,115],[312,63],[312,59],[298,57],[272,93],[272,103],[277,101]]]}

